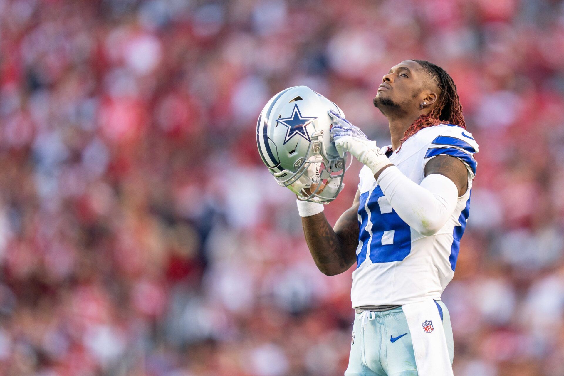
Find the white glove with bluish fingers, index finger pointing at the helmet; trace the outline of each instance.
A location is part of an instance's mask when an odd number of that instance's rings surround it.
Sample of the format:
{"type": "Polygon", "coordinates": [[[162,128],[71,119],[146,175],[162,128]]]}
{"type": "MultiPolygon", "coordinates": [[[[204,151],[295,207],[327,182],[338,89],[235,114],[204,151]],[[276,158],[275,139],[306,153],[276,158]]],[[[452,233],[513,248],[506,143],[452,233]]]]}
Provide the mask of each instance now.
{"type": "Polygon", "coordinates": [[[368,166],[373,174],[391,164],[386,154],[376,146],[376,141],[368,140],[358,127],[333,110],[329,111],[329,116],[333,118],[333,142],[341,157],[345,152],[351,153],[360,163],[368,166]]]}

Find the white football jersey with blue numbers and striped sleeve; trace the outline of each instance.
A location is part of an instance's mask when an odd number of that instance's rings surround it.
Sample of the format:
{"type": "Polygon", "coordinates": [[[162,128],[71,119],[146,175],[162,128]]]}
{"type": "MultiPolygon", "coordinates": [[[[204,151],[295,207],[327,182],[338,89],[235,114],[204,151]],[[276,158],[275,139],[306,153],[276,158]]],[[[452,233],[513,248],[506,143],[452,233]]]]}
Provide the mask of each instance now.
{"type": "MultiPolygon", "coordinates": [[[[386,151],[387,147],[382,148],[386,151]]],[[[478,144],[465,129],[455,125],[424,128],[391,154],[404,175],[420,184],[431,158],[447,154],[460,158],[468,168],[468,190],[458,198],[456,209],[435,234],[423,236],[395,212],[372,171],[360,170],[358,210],[359,245],[352,273],[352,307],[401,305],[424,299],[440,299],[452,280],[470,210],[470,190],[476,173],[474,153],[478,144]]]]}

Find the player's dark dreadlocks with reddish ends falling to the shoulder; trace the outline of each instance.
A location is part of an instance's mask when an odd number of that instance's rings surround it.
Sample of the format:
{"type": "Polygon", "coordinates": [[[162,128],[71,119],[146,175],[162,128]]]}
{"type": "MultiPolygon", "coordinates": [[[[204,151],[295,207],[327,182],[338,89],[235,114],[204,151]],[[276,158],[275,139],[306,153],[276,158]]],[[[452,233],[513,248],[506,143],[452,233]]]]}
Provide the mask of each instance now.
{"type": "Polygon", "coordinates": [[[435,106],[430,113],[422,114],[409,126],[403,134],[403,139],[400,140],[400,145],[396,153],[402,148],[404,141],[426,127],[448,123],[466,129],[464,116],[462,116],[462,105],[456,93],[455,82],[452,81],[451,76],[449,76],[443,68],[427,60],[413,61],[417,61],[417,63],[429,73],[431,79],[437,83],[440,89],[439,101],[437,106],[435,106]]]}

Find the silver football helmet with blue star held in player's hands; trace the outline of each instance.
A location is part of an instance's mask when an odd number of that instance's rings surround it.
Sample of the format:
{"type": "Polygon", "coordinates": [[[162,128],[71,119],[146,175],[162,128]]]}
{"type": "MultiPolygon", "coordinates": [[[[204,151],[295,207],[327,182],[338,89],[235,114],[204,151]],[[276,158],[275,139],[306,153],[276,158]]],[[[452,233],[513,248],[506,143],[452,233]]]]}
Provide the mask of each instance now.
{"type": "Polygon", "coordinates": [[[327,204],[345,186],[346,155],[331,142],[330,109],[342,110],[307,86],[280,91],[258,117],[257,145],[276,182],[300,200],[327,204]]]}

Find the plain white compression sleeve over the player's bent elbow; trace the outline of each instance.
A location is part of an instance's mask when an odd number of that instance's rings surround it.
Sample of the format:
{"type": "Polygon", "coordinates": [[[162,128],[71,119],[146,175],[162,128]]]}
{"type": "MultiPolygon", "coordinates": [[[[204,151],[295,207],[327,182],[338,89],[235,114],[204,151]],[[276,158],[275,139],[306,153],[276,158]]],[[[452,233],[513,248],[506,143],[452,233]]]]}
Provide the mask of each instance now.
{"type": "Polygon", "coordinates": [[[456,184],[439,174],[426,176],[417,185],[398,167],[390,166],[378,176],[378,185],[399,217],[425,236],[443,227],[458,200],[456,184]]]}

